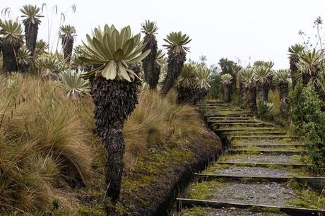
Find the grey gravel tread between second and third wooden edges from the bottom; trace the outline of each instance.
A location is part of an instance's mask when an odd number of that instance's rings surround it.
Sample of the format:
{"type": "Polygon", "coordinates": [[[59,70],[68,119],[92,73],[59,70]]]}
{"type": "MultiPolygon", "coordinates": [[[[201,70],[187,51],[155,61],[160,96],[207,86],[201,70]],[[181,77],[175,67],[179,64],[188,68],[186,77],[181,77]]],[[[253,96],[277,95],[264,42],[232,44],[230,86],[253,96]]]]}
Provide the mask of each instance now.
{"type": "Polygon", "coordinates": [[[294,176],[293,172],[286,169],[273,169],[264,167],[229,167],[224,169],[215,169],[215,172],[209,174],[225,174],[232,176],[270,176],[283,177],[294,176]]]}

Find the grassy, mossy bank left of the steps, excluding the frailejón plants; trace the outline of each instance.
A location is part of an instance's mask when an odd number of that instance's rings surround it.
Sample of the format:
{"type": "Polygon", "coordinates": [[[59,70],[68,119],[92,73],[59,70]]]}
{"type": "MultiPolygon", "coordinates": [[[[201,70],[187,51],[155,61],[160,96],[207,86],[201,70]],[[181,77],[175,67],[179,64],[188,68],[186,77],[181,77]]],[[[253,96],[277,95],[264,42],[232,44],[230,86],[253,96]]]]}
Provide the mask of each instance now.
{"type": "Polygon", "coordinates": [[[124,125],[122,194],[105,199],[105,149],[90,96],[51,80],[0,76],[0,215],[166,215],[179,188],[220,150],[194,107],[143,90],[124,125]]]}

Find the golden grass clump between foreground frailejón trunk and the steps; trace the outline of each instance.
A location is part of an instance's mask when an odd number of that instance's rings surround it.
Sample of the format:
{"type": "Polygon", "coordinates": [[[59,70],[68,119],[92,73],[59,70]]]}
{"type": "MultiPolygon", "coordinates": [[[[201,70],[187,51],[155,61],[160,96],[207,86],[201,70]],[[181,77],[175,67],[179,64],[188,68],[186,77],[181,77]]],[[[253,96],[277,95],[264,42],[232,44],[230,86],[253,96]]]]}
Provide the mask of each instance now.
{"type": "Polygon", "coordinates": [[[136,157],[157,147],[167,148],[175,143],[201,138],[203,122],[194,107],[179,105],[176,93],[160,97],[147,90],[124,126],[126,168],[133,167],[136,157]]]}

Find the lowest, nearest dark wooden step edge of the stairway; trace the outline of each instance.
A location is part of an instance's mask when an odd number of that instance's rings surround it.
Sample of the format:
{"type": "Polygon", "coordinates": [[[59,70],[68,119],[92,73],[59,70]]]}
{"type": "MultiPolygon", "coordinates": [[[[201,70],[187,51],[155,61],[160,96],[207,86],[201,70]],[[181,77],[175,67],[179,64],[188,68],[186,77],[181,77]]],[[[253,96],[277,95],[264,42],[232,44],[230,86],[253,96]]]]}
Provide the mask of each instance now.
{"type": "Polygon", "coordinates": [[[295,208],[285,206],[273,206],[273,205],[254,205],[245,203],[228,203],[218,202],[216,200],[196,200],[187,198],[177,198],[177,211],[180,212],[182,208],[191,208],[195,206],[210,207],[210,208],[274,208],[280,212],[285,212],[288,215],[323,215],[325,210],[311,209],[311,208],[295,208]]]}

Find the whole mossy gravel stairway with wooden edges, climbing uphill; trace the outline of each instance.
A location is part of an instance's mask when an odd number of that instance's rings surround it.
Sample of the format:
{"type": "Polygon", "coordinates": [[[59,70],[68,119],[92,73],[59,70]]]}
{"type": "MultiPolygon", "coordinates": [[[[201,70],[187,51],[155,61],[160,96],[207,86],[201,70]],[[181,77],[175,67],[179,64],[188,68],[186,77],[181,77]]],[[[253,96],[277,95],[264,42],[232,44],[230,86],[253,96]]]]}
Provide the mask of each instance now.
{"type": "Polygon", "coordinates": [[[177,198],[178,215],[325,215],[325,178],[300,138],[230,104],[198,106],[226,150],[177,198]]]}

